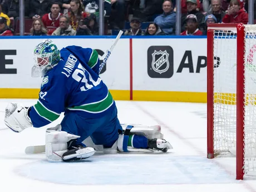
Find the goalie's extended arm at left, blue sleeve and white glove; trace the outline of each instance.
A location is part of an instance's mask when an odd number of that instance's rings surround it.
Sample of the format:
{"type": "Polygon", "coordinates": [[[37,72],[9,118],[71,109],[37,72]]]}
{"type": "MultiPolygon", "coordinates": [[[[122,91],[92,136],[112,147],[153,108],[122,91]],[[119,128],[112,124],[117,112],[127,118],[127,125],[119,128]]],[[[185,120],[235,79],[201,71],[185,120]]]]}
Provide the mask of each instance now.
{"type": "Polygon", "coordinates": [[[57,75],[43,85],[37,104],[23,107],[9,104],[6,107],[5,124],[15,132],[27,127],[42,127],[55,121],[65,109],[66,76],[57,75]]]}

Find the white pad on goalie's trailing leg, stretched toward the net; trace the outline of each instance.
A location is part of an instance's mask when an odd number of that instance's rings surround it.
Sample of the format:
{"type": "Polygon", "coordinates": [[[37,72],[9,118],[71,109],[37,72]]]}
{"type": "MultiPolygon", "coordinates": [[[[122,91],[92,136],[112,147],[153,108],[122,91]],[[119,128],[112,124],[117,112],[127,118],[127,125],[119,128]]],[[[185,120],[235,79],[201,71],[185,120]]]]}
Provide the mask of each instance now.
{"type": "Polygon", "coordinates": [[[163,139],[161,134],[161,125],[140,125],[140,124],[121,124],[125,131],[127,126],[133,126],[130,133],[134,135],[145,136],[147,139],[163,139]]]}

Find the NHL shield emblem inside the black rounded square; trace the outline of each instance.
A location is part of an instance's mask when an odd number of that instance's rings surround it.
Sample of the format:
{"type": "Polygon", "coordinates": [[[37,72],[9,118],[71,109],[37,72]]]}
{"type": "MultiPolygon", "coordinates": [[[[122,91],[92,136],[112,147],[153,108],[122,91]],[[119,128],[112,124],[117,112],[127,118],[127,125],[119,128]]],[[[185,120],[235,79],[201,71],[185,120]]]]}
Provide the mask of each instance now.
{"type": "Polygon", "coordinates": [[[154,51],[152,53],[152,68],[157,73],[164,73],[169,69],[169,53],[165,51],[154,51]]]}

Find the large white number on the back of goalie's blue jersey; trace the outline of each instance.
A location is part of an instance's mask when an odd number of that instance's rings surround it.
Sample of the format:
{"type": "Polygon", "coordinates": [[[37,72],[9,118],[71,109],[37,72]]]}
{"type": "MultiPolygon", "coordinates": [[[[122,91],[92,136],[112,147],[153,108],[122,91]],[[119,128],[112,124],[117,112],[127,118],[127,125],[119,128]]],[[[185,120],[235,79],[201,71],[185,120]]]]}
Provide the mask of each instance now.
{"type": "Polygon", "coordinates": [[[86,69],[81,65],[81,63],[79,63],[78,68],[73,72],[72,77],[77,82],[80,82],[82,80],[81,82],[85,83],[84,86],[80,87],[81,91],[87,91],[93,86],[99,85],[101,82],[101,78],[97,78],[97,81],[94,81],[90,73],[86,71],[86,69]],[[78,74],[82,75],[82,77],[80,77],[78,74]],[[89,80],[87,80],[85,74],[88,74],[89,80]]]}

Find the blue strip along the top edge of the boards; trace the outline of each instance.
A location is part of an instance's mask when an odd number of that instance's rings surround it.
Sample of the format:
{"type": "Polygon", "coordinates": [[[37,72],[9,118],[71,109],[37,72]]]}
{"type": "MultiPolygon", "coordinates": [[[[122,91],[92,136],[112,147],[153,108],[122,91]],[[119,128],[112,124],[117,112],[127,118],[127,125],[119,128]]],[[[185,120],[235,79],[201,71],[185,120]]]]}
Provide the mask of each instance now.
{"type": "MultiPolygon", "coordinates": [[[[115,38],[116,36],[0,36],[0,39],[42,39],[42,38],[61,38],[61,39],[72,39],[72,38],[83,38],[83,39],[91,39],[91,38],[115,38]]],[[[185,39],[191,39],[191,38],[207,38],[207,36],[121,36],[121,38],[185,38],[185,39]]]]}

